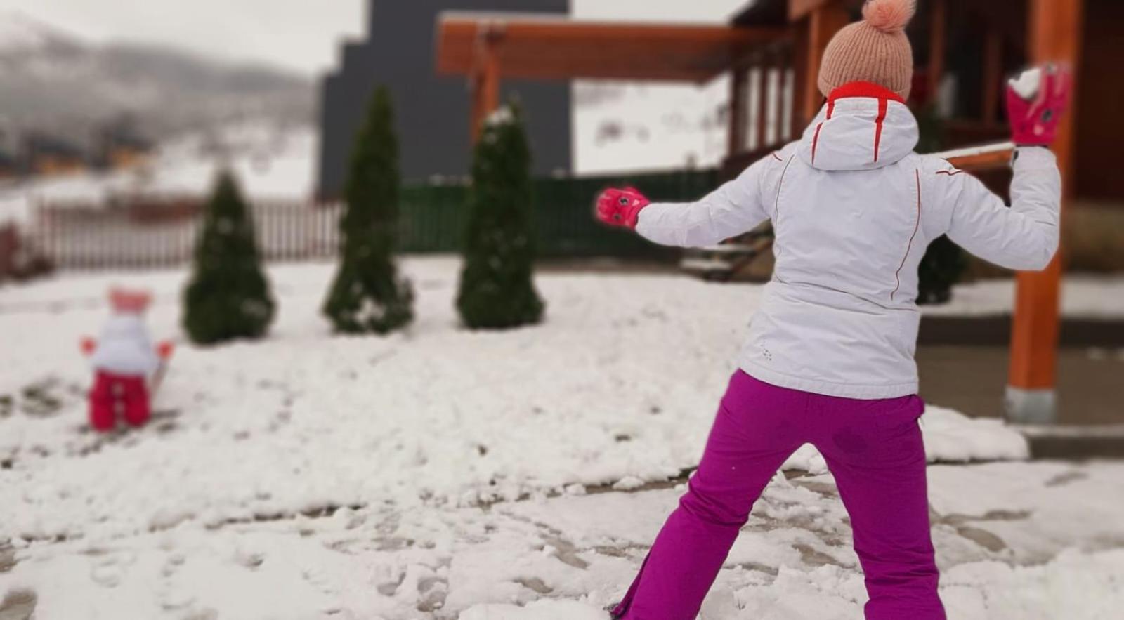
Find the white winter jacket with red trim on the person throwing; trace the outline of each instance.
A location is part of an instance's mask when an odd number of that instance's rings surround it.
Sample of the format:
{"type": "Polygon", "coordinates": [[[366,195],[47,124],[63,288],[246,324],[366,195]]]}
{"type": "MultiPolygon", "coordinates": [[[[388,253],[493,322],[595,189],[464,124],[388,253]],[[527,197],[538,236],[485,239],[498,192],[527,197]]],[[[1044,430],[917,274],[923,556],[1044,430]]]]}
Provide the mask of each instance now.
{"type": "Polygon", "coordinates": [[[976,177],[917,155],[917,121],[894,93],[849,84],[804,137],[699,202],[653,203],[637,233],[708,246],[765,220],[777,266],[740,365],[782,388],[854,399],[917,393],[917,266],[948,234],[991,263],[1042,270],[1058,248],[1053,154],[1019,148],[1013,207],[976,177]]]}

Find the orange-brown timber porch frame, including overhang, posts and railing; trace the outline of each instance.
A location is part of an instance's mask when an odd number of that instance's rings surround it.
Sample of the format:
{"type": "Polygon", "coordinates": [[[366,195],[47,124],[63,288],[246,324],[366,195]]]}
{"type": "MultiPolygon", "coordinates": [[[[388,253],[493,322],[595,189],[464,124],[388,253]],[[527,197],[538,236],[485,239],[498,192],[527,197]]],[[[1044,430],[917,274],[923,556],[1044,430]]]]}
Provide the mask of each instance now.
{"type": "MultiPolygon", "coordinates": [[[[934,92],[944,71],[946,12],[952,1],[955,0],[928,3],[932,11],[928,16],[932,22],[928,76],[930,89],[934,92]]],[[[1030,16],[1028,63],[1064,62],[1077,67],[1084,0],[1022,1],[1026,2],[1030,16]]],[[[728,27],[595,22],[510,13],[444,13],[437,24],[437,72],[469,78],[474,135],[484,117],[499,106],[502,78],[705,83],[733,72],[731,154],[734,155],[745,151],[745,145],[738,143],[745,129],[740,111],[745,97],[744,69],[759,66],[763,70],[761,74],[778,69],[777,63],[791,69],[790,120],[792,135],[796,135],[823,103],[816,75],[824,49],[835,33],[851,21],[851,11],[860,2],[758,0],[752,11],[779,12],[779,19],[772,16],[768,26],[728,27]]],[[[1001,81],[1000,40],[995,36],[986,46],[982,58],[986,83],[1001,81]]],[[[763,109],[764,98],[769,97],[765,90],[758,89],[759,109],[763,109]]],[[[985,115],[997,116],[998,94],[984,92],[981,97],[985,98],[985,115]]],[[[759,143],[764,135],[764,115],[760,116],[759,143]]],[[[1066,117],[1053,147],[1067,188],[1067,200],[1073,179],[1075,116],[1066,117]]],[[[1010,154],[1012,146],[1000,144],[951,153],[949,161],[966,170],[986,170],[1007,165],[1010,154]]],[[[1061,271],[1060,258],[1054,258],[1044,272],[1017,275],[1008,379],[1008,416],[1016,421],[1053,420],[1061,271]]]]}

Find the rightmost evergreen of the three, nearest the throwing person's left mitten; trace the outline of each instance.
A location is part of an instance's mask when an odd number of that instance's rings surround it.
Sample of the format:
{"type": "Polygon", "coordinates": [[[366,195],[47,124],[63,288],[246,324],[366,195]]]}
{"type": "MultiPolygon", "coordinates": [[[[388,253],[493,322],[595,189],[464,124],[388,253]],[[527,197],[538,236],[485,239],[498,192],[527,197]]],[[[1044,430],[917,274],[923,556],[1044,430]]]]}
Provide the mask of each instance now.
{"type": "Polygon", "coordinates": [[[544,304],[535,291],[531,147],[515,106],[481,128],[472,162],[464,267],[456,308],[470,328],[535,323],[544,304]]]}

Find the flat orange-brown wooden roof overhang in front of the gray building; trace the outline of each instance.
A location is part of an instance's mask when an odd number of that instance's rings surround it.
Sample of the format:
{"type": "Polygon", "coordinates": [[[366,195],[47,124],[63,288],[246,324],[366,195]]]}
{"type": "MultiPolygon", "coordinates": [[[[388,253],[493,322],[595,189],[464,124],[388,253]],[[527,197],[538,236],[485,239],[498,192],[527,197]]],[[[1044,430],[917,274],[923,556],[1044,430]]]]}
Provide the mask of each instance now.
{"type": "Polygon", "coordinates": [[[735,60],[788,31],[772,27],[582,21],[523,13],[445,12],[437,21],[437,73],[479,70],[495,42],[509,79],[707,82],[735,60]]]}

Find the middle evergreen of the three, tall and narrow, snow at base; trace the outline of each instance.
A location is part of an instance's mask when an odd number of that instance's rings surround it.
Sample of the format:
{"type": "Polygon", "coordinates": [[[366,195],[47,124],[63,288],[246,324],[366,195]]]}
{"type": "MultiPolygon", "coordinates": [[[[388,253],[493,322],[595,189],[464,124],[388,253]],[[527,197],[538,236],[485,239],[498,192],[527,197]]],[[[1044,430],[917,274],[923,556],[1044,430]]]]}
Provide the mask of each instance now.
{"type": "Polygon", "coordinates": [[[324,303],[336,331],[387,334],[414,318],[414,293],[393,261],[401,185],[393,125],[390,92],[380,88],[352,151],[339,273],[324,303]]]}

